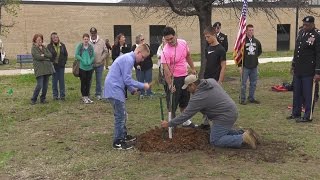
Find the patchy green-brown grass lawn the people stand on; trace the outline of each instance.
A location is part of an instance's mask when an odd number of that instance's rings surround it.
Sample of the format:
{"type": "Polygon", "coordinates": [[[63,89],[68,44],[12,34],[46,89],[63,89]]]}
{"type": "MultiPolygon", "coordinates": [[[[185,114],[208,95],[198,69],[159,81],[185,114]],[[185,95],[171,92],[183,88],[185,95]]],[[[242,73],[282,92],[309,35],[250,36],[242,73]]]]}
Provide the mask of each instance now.
{"type": "MultiPolygon", "coordinates": [[[[34,75],[0,76],[0,179],[320,179],[318,104],[312,123],[286,120],[292,93],[272,92],[270,87],[291,80],[290,63],[259,67],[256,97],[262,104],[237,103],[236,126],[254,128],[265,145],[257,150],[216,148],[211,153],[113,150],[111,106],[103,101],[82,104],[80,81],[71,74],[66,75],[65,102],[53,101],[49,88],[49,104],[34,106],[34,75]],[[10,88],[12,95],[6,93],[10,88]]],[[[227,67],[227,77],[223,86],[238,102],[234,66],[227,67]]],[[[153,91],[161,93],[162,87],[155,85],[153,91]]],[[[138,101],[130,95],[127,110],[131,134],[160,125],[159,99],[138,101]]],[[[200,124],[201,118],[197,114],[193,121],[200,124]]]]}

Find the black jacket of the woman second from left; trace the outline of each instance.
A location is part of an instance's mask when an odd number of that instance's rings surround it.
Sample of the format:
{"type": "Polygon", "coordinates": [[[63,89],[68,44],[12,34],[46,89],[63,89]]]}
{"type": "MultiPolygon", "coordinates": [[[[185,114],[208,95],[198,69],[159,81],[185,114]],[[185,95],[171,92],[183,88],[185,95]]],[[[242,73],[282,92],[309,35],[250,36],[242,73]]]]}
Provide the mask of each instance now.
{"type": "Polygon", "coordinates": [[[63,43],[60,42],[60,44],[61,44],[61,46],[60,46],[60,56],[59,56],[59,59],[58,59],[58,63],[54,62],[56,57],[57,57],[57,52],[54,49],[53,43],[48,44],[47,48],[52,54],[51,61],[53,62],[53,65],[54,66],[59,66],[59,67],[65,67],[65,65],[67,63],[67,60],[68,60],[68,51],[67,51],[66,46],[63,43]]]}

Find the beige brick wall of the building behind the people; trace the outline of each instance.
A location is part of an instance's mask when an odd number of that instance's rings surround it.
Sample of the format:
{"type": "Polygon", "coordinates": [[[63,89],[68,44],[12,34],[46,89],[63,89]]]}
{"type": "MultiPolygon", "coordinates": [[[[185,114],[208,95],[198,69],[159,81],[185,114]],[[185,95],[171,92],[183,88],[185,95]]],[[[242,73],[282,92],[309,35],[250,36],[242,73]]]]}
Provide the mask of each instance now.
{"type": "MultiPolygon", "coordinates": [[[[320,9],[315,9],[320,12],[320,9]]],[[[249,9],[252,13],[252,10],[249,9]]],[[[291,24],[290,48],[294,48],[295,9],[279,9],[278,15],[282,24],[291,24]]],[[[222,32],[228,34],[229,50],[237,35],[238,19],[232,9],[214,9],[213,21],[222,23],[222,32]]],[[[239,14],[239,12],[238,12],[239,14]]],[[[301,14],[299,23],[305,14],[301,14]]],[[[149,42],[149,25],[165,25],[159,22],[159,15],[154,14],[138,20],[132,16],[129,7],[123,6],[80,6],[80,5],[34,5],[22,4],[19,16],[15,18],[16,25],[7,37],[2,37],[6,53],[14,58],[17,54],[30,53],[32,37],[35,33],[42,33],[45,42],[49,42],[52,31],[58,32],[60,39],[67,45],[70,56],[74,56],[74,47],[81,41],[82,34],[90,27],[98,29],[103,39],[109,38],[113,42],[113,25],[131,25],[132,42],[137,34],[144,34],[149,42]]],[[[247,23],[255,26],[255,36],[261,41],[264,51],[276,50],[277,21],[269,23],[263,13],[251,14],[247,23]],[[274,27],[272,27],[274,26],[274,27]]],[[[199,53],[199,23],[196,17],[177,20],[176,24],[168,23],[177,29],[179,37],[188,41],[193,53],[199,53]]],[[[316,24],[320,25],[316,19],[316,24]]]]}

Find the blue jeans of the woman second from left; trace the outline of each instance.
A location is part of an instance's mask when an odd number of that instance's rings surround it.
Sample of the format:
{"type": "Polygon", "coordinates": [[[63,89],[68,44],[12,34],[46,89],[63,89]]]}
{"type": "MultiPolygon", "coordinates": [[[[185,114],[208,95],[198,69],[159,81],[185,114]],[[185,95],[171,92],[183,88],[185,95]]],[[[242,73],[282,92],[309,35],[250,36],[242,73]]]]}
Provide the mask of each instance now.
{"type": "Polygon", "coordinates": [[[65,84],[64,84],[64,67],[55,66],[55,73],[52,74],[52,95],[53,98],[59,97],[64,98],[65,94],[65,84]],[[58,83],[59,83],[59,91],[58,91],[58,83]]]}

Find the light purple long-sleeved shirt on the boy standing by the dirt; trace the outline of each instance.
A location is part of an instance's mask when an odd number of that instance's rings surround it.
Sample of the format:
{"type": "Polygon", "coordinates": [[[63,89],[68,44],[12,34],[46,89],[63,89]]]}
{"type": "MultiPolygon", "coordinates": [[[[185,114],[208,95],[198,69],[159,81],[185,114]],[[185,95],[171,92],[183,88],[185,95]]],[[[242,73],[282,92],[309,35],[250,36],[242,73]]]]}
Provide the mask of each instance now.
{"type": "Polygon", "coordinates": [[[125,102],[125,86],[130,92],[134,88],[143,89],[144,84],[132,79],[132,68],[135,62],[134,52],[119,56],[111,65],[104,81],[104,98],[113,98],[125,102]]]}

